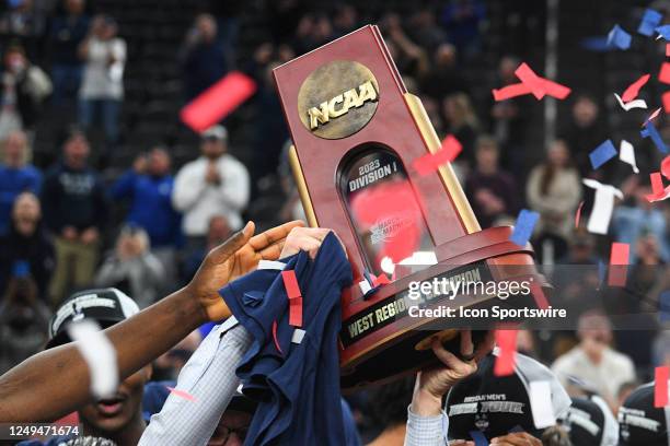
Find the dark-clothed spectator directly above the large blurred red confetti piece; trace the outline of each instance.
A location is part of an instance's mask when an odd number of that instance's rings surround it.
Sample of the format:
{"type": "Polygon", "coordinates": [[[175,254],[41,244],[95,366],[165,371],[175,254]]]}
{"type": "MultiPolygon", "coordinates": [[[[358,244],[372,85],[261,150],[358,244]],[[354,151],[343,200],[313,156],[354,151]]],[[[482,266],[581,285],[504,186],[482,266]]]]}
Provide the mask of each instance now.
{"type": "Polygon", "coordinates": [[[217,39],[217,21],[200,14],[180,50],[184,70],[186,101],[190,101],[221,79],[230,70],[226,47],[217,39]]]}

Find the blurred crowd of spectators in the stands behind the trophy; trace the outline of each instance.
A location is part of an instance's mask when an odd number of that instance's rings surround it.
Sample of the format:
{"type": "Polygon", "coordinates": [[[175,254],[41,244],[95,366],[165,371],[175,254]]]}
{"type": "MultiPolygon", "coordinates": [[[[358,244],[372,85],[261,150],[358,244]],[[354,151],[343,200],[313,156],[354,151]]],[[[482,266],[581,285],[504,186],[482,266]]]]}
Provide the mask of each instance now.
{"type": "MultiPolygon", "coordinates": [[[[516,37],[484,85],[488,91],[518,82],[513,72],[529,57],[523,36],[541,27],[542,11],[523,8],[508,17],[516,37]]],[[[496,38],[482,32],[486,2],[424,2],[411,13],[394,13],[354,2],[312,10],[281,0],[266,2],[264,11],[272,27],[253,54],[240,54],[238,45],[253,30],[241,28],[234,15],[216,8],[194,17],[174,51],[184,103],[231,70],[252,75],[258,91],[243,116],[253,116],[255,131],[240,130],[243,118],[233,116],[198,136],[183,165],[173,163],[170,146],[155,141],[119,169],[108,160],[126,138],[119,119],[124,71],[132,58],[123,23],[85,0],[3,1],[0,373],[41,349],[50,312],[70,293],[115,286],[146,307],[188,281],[208,249],[245,219],[267,227],[301,218],[284,156],[289,136],[272,70],[367,23],[380,25],[408,91],[421,98],[438,134],[453,134],[463,145],[454,168],[482,227],[511,224],[521,209],[534,210],[540,222],[532,242],[542,263],[607,265],[616,240],[631,244],[628,272],[645,292],[667,285],[670,208],[645,198],[650,192],[646,174],[660,159],[640,160],[640,175],[626,165],[610,166],[615,163],[593,172],[588,153],[610,138],[611,129],[601,111],[603,98],[588,92],[576,89],[568,97],[569,113],[559,115],[557,138],[546,148],[529,142],[529,125],[540,109],[532,96],[493,102],[490,95],[483,101],[473,94],[482,85],[473,85],[463,68],[484,39],[496,38]],[[62,129],[57,161],[36,166],[36,124],[46,109],[63,104],[74,104],[77,113],[62,129]],[[104,136],[95,143],[94,128],[104,136]],[[588,215],[593,204],[584,178],[624,192],[607,236],[589,234],[585,219],[575,228],[577,209],[588,215]]],[[[580,283],[566,292],[589,298],[580,294],[586,290],[580,283]]],[[[642,301],[626,305],[631,313],[643,313],[642,301]]],[[[656,326],[621,334],[607,317],[596,320],[598,330],[588,336],[527,332],[520,350],[602,386],[599,392],[617,407],[622,392],[647,380],[654,366],[670,364],[670,337],[656,326]]],[[[166,377],[178,372],[197,345],[195,338],[161,360],[158,368],[166,377]]]]}

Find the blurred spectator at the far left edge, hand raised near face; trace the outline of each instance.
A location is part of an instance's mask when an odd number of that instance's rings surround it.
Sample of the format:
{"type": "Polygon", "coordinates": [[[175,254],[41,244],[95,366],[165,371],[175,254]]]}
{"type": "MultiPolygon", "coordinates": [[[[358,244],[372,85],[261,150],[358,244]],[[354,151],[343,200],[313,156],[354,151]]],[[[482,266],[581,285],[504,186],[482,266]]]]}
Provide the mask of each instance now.
{"type": "Polygon", "coordinates": [[[51,81],[26,58],[23,47],[11,44],[4,51],[0,73],[0,140],[12,130],[33,128],[51,81]]]}

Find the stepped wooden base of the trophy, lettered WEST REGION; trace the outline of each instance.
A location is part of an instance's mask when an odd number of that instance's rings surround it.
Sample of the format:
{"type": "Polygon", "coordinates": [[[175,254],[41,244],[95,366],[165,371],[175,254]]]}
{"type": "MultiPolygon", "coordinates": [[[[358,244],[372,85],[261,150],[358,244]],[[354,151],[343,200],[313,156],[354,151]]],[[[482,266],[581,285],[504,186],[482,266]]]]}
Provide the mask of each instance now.
{"type": "MultiPolygon", "coordinates": [[[[482,341],[495,320],[478,318],[411,317],[407,310],[409,283],[431,281],[435,278],[475,278],[484,282],[530,281],[545,291],[551,290],[544,277],[538,273],[532,251],[509,242],[511,228],[492,227],[463,236],[437,247],[438,263],[390,284],[383,285],[369,300],[350,302],[343,309],[340,341],[342,387],[362,387],[395,379],[437,363],[429,348],[430,338],[439,336],[449,351],[459,352],[459,328],[472,328],[473,341],[482,341]],[[460,254],[459,254],[460,253],[460,254]],[[367,319],[367,324],[365,322],[367,319]],[[362,322],[361,322],[362,321],[362,322]]],[[[535,297],[513,295],[507,300],[497,296],[459,295],[432,298],[425,308],[467,307],[520,308],[534,307],[535,297]]]]}

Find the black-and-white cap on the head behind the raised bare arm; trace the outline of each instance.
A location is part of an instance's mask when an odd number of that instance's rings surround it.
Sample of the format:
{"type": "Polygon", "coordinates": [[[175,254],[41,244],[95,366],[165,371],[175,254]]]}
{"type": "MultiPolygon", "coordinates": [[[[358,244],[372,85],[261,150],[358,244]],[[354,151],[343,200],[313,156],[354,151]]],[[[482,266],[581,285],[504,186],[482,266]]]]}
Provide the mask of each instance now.
{"type": "Polygon", "coordinates": [[[69,322],[93,319],[102,328],[113,326],[139,313],[130,297],[114,287],[86,290],[72,294],[58,307],[49,321],[47,349],[71,342],[67,332],[69,322]]]}

